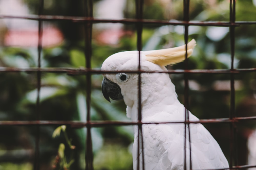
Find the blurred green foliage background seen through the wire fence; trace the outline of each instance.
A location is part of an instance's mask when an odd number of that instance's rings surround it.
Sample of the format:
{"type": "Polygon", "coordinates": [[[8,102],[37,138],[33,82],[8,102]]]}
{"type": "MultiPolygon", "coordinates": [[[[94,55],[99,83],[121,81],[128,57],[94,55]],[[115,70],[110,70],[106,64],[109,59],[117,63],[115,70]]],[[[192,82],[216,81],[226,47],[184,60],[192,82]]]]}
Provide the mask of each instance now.
{"type": "MultiPolygon", "coordinates": [[[[229,0],[191,0],[190,20],[229,21],[229,0]]],[[[97,19],[135,18],[135,0],[94,0],[97,19]]],[[[38,21],[2,16],[37,15],[38,0],[0,0],[0,68],[37,67],[38,21]]],[[[84,16],[82,0],[45,0],[44,15],[84,16]]],[[[183,20],[183,1],[144,0],[144,19],[183,20]]],[[[237,21],[256,21],[256,1],[236,1],[237,21]]],[[[42,68],[84,68],[84,24],[68,20],[42,22],[42,68]]],[[[136,24],[96,23],[92,32],[93,69],[100,69],[111,54],[136,50],[136,24]]],[[[256,24],[235,29],[234,68],[256,68],[256,24]]],[[[189,26],[189,40],[197,46],[188,59],[189,69],[231,68],[229,27],[189,26]]],[[[184,27],[144,24],[143,50],[184,44],[184,27]]],[[[185,69],[184,63],[169,69],[185,69]]],[[[42,73],[41,120],[86,121],[86,76],[42,73]]],[[[189,74],[189,110],[199,119],[229,117],[230,74],[189,74]]],[[[236,116],[256,116],[256,73],[235,77],[236,116]]],[[[170,74],[179,100],[184,103],[184,75],[170,74]]],[[[123,101],[106,101],[102,75],[92,75],[91,120],[130,121],[123,101]]],[[[37,74],[0,72],[0,120],[36,120],[37,74]]],[[[204,124],[230,157],[229,123],[204,124]]],[[[236,123],[238,165],[256,165],[255,121],[236,123]],[[248,139],[250,142],[247,141],[248,139]],[[249,149],[247,147],[249,145],[249,149]],[[255,149],[254,149],[255,150],[255,149]],[[250,154],[249,154],[250,153],[250,154]],[[248,160],[249,155],[249,160],[248,160]],[[249,163],[248,163],[249,161],[249,163]]],[[[92,128],[95,170],[132,170],[131,126],[92,128]]],[[[0,170],[33,169],[35,126],[0,126],[0,170]]],[[[40,127],[40,169],[85,169],[86,128],[40,127]],[[52,134],[55,132],[55,137],[52,134]],[[57,135],[56,135],[57,134],[57,135]],[[59,134],[59,135],[58,135],[59,134]]]]}

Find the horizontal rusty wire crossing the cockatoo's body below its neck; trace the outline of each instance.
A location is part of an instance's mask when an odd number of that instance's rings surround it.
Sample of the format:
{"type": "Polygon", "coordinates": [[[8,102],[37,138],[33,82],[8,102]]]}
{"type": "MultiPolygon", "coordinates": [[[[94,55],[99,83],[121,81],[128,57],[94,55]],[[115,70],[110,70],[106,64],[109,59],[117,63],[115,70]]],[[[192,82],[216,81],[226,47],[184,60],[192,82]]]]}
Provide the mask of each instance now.
{"type": "Polygon", "coordinates": [[[102,127],[102,126],[129,126],[129,125],[141,125],[141,124],[178,124],[178,123],[227,123],[227,122],[240,122],[245,120],[256,120],[256,116],[250,117],[234,117],[220,118],[220,119],[201,119],[198,121],[173,121],[173,122],[125,122],[125,121],[0,121],[0,126],[6,125],[17,125],[17,126],[29,126],[29,125],[70,125],[73,128],[82,128],[90,125],[91,127],[102,127]]]}

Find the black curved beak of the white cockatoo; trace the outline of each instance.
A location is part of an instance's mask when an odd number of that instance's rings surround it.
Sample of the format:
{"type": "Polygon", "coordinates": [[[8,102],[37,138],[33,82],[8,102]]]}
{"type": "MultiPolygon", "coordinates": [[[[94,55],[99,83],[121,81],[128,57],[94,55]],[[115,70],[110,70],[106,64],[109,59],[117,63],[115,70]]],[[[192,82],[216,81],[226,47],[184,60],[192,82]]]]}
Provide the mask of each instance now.
{"type": "Polygon", "coordinates": [[[104,77],[102,84],[101,84],[102,94],[110,102],[110,99],[113,100],[121,100],[124,97],[121,94],[121,88],[118,84],[111,82],[109,79],[104,77]]]}

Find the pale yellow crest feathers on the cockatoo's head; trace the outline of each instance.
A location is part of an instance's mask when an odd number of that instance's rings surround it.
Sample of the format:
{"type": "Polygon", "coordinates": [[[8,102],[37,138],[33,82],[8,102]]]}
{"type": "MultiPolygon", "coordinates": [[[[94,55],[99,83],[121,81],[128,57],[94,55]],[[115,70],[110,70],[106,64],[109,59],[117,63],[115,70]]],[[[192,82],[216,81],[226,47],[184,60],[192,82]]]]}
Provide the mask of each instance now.
{"type": "MultiPolygon", "coordinates": [[[[191,56],[193,49],[196,46],[196,41],[193,39],[187,44],[187,57],[191,56]]],[[[186,45],[174,48],[154,50],[146,55],[146,60],[160,66],[167,66],[185,60],[186,45]]]]}

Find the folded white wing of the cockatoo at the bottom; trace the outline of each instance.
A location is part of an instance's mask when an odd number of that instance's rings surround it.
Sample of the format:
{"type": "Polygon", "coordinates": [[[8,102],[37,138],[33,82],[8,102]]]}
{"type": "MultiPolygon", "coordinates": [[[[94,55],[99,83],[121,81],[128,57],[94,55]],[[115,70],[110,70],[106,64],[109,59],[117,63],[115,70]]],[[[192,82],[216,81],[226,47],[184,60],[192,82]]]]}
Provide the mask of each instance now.
{"type": "MultiPolygon", "coordinates": [[[[163,120],[165,120],[164,122],[166,122],[168,115],[169,113],[161,112],[155,114],[151,119],[159,120],[159,117],[161,117],[161,121],[163,122],[163,120]]],[[[190,114],[190,118],[197,119],[192,114],[190,114]]],[[[184,147],[184,124],[144,124],[143,143],[145,169],[184,169],[184,148],[186,148],[186,165],[187,168],[189,168],[190,151],[188,126],[186,126],[186,132],[186,147],[184,147]]],[[[193,169],[229,167],[227,159],[218,143],[202,124],[190,124],[190,141],[193,169]]],[[[135,153],[137,153],[136,148],[136,146],[133,148],[133,152],[135,153]]],[[[136,162],[136,159],[134,161],[136,162]]]]}

